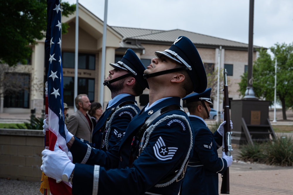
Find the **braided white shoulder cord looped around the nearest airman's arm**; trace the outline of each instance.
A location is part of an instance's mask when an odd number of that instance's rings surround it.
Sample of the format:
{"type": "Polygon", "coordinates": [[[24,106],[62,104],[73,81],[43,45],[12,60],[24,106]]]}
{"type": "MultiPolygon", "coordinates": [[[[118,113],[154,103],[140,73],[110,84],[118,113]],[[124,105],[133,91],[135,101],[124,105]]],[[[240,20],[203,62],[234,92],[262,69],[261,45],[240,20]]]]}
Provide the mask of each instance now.
{"type": "MultiPolygon", "coordinates": [[[[144,135],[147,132],[147,136],[146,136],[147,139],[146,139],[146,142],[145,142],[144,146],[142,147],[141,152],[144,150],[145,147],[147,147],[147,144],[149,142],[150,135],[153,132],[153,130],[156,128],[156,126],[158,126],[160,123],[162,123],[162,122],[164,122],[166,120],[169,120],[170,118],[181,118],[182,120],[184,120],[186,122],[186,124],[188,126],[188,129],[189,129],[189,133],[190,133],[190,144],[189,144],[189,148],[188,148],[188,152],[186,154],[186,157],[185,157],[185,159],[184,159],[184,161],[183,161],[183,163],[182,163],[182,165],[181,165],[178,173],[175,175],[175,177],[173,179],[171,179],[170,181],[166,182],[166,183],[156,184],[155,187],[165,187],[165,186],[168,186],[168,185],[172,184],[179,177],[179,175],[183,172],[183,169],[184,169],[185,164],[187,163],[187,160],[188,160],[188,157],[189,157],[190,151],[192,149],[192,145],[193,145],[193,142],[192,142],[192,138],[193,138],[193,136],[192,136],[192,130],[190,128],[190,125],[189,125],[188,120],[186,119],[185,116],[173,114],[171,116],[165,116],[164,118],[162,118],[158,122],[156,122],[156,124],[151,125],[151,126],[149,126],[147,128],[147,130],[144,132],[144,135]]],[[[144,136],[142,137],[142,139],[143,138],[144,138],[144,136]]]]}

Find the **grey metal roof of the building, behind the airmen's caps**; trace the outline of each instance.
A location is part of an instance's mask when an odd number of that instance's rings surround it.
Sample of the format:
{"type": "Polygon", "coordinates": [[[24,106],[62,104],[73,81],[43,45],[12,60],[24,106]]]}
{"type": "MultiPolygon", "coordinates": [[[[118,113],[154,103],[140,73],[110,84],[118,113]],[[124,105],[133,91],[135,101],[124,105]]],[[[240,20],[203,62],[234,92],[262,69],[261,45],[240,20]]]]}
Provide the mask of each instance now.
{"type": "MultiPolygon", "coordinates": [[[[178,36],[188,37],[195,45],[201,45],[204,47],[219,47],[223,48],[239,48],[247,50],[248,44],[240,43],[237,41],[212,37],[208,35],[203,35],[199,33],[193,33],[185,30],[175,29],[175,30],[151,30],[151,29],[140,29],[140,28],[127,28],[127,27],[117,27],[112,26],[114,30],[123,36],[123,40],[139,40],[141,43],[147,42],[161,42],[173,43],[178,36]]],[[[254,48],[260,48],[258,46],[253,46],[254,48]]]]}

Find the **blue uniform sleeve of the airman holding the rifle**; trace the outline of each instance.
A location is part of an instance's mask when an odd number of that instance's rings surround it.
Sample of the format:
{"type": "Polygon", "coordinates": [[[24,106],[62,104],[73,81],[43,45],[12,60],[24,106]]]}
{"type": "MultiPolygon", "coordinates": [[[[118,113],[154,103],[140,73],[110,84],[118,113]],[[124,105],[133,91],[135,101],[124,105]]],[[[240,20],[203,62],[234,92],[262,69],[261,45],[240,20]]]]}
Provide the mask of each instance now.
{"type": "Polygon", "coordinates": [[[226,160],[219,158],[217,147],[213,143],[213,134],[208,129],[200,129],[195,134],[194,150],[206,169],[215,173],[222,173],[227,169],[226,160]]]}

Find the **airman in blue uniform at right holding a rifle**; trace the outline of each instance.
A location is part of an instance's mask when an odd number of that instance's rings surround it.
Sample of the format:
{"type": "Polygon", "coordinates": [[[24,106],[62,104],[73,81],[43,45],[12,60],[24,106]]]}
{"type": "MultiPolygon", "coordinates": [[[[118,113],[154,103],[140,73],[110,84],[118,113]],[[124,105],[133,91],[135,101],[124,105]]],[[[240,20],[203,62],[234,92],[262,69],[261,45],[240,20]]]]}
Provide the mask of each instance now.
{"type": "MultiPolygon", "coordinates": [[[[182,195],[219,194],[219,173],[223,173],[232,163],[232,156],[218,157],[217,149],[222,146],[224,124],[221,123],[214,134],[209,130],[204,119],[209,118],[211,88],[203,93],[193,93],[182,100],[190,112],[189,119],[194,130],[193,156],[188,162],[184,181],[181,187],[182,195]]],[[[230,127],[233,128],[230,121],[230,127]]]]}

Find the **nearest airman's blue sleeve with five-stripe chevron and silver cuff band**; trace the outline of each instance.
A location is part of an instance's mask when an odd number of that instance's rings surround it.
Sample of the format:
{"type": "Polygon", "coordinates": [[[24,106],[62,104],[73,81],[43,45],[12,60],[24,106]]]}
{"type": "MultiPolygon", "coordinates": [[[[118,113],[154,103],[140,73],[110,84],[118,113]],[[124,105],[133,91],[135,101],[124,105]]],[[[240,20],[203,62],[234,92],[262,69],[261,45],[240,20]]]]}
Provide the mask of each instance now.
{"type": "MultiPolygon", "coordinates": [[[[158,184],[170,172],[182,167],[191,156],[189,152],[193,151],[192,143],[193,131],[184,120],[171,118],[163,121],[153,128],[149,140],[145,140],[146,147],[131,168],[107,170],[97,165],[91,167],[76,164],[74,178],[79,178],[79,182],[74,182],[72,192],[142,194],[158,184]],[[84,169],[87,171],[81,171],[84,169]]],[[[178,194],[180,182],[177,184],[178,191],[170,194],[178,194]]]]}

